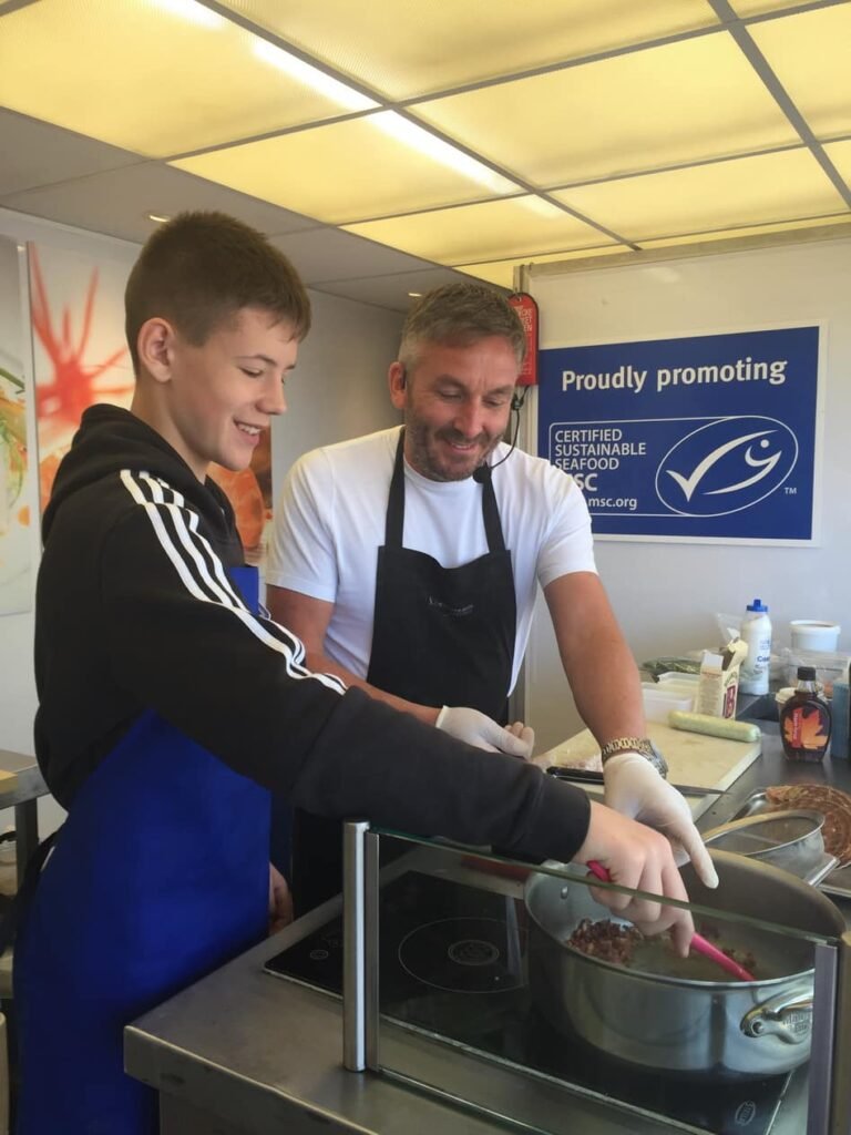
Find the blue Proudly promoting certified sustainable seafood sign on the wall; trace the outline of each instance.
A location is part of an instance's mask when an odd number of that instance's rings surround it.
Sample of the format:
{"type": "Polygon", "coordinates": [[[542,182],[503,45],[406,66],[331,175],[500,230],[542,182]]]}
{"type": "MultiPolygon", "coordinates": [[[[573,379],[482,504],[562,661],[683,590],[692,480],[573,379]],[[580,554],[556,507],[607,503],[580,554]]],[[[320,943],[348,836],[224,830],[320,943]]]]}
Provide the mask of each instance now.
{"type": "Polygon", "coordinates": [[[811,540],[819,328],[540,353],[538,452],[598,535],[811,540]]]}

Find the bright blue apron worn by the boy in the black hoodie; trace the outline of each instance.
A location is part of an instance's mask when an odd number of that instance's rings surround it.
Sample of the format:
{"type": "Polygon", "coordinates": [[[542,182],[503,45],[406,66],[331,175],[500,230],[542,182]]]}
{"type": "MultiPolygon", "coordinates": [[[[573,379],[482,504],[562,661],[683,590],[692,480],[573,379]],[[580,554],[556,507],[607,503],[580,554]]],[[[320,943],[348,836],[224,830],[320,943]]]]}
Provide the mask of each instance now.
{"type": "MultiPolygon", "coordinates": [[[[256,569],[229,574],[255,609],[256,569]]],[[[24,914],[17,1135],[155,1133],[124,1026],[260,941],[268,903],[269,793],[144,713],[79,789],[24,914]]]]}

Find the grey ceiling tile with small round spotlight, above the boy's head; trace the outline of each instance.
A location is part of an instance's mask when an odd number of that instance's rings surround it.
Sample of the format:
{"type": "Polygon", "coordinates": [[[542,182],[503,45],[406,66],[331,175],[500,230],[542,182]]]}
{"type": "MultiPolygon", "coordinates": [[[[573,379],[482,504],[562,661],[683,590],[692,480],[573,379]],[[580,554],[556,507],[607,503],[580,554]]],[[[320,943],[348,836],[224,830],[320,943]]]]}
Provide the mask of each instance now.
{"type": "Polygon", "coordinates": [[[217,209],[264,233],[294,233],[315,226],[306,217],[159,162],[141,162],[11,194],[2,203],[36,217],[138,242],[145,241],[157,227],[150,213],[174,217],[187,209],[217,209]]]}

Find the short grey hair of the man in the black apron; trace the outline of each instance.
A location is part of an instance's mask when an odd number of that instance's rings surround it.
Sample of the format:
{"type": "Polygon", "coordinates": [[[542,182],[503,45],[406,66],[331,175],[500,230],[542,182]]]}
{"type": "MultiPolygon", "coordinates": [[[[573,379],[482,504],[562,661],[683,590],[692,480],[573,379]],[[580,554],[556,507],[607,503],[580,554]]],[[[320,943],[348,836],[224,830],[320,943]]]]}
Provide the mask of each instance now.
{"type": "Polygon", "coordinates": [[[412,371],[426,343],[470,346],[492,335],[508,339],[520,367],[526,353],[526,338],[508,301],[485,284],[446,284],[427,292],[407,313],[399,362],[412,371]]]}

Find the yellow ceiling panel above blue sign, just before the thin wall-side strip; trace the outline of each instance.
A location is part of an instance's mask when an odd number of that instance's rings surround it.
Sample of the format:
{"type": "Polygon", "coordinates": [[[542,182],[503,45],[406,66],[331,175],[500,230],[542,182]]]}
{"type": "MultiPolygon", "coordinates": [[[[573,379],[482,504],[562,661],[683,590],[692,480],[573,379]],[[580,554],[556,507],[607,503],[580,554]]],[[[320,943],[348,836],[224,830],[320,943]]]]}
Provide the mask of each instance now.
{"type": "Polygon", "coordinates": [[[554,196],[632,241],[790,221],[844,208],[803,149],[603,182],[554,196]]]}

